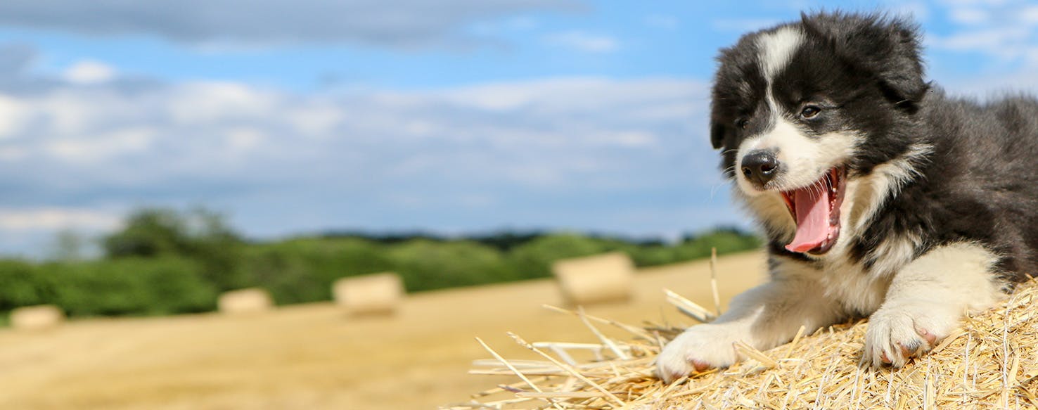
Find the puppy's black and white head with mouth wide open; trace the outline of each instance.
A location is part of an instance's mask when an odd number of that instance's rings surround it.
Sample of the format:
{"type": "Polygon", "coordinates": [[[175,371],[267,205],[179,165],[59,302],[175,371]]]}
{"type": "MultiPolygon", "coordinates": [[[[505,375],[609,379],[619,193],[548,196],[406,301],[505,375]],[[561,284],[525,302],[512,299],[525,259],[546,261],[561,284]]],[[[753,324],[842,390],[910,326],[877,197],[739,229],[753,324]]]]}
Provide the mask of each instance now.
{"type": "Polygon", "coordinates": [[[928,89],[916,27],[804,15],[743,36],[718,59],[710,139],[726,176],[747,198],[786,204],[795,223],[787,249],[825,253],[839,237],[848,179],[911,143],[898,130],[928,89]]]}

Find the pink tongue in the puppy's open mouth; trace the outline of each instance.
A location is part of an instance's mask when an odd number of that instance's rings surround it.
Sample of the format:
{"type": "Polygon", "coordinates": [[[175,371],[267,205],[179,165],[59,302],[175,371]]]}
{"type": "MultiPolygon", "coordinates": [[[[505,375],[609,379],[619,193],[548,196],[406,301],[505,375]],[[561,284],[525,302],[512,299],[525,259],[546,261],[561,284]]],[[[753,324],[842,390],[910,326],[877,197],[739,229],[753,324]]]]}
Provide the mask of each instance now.
{"type": "Polygon", "coordinates": [[[786,245],[793,252],[817,248],[829,235],[829,190],[813,185],[793,192],[796,237],[786,245]]]}

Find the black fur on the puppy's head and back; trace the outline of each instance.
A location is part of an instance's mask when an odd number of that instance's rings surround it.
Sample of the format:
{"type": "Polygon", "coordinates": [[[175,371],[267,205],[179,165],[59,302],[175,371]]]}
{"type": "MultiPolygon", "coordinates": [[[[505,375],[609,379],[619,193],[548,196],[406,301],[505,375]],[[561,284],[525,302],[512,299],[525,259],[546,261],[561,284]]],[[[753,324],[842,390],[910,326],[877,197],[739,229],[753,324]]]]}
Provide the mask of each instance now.
{"type": "MultiPolygon", "coordinates": [[[[721,51],[712,90],[710,138],[721,149],[720,167],[734,179],[736,148],[771,125],[764,103],[766,80],[756,39],[796,26],[805,42],[776,74],[773,97],[787,111],[811,99],[826,116],[804,127],[814,137],[854,131],[865,138],[847,166],[848,177],[902,158],[911,147],[932,152],[914,160],[919,175],[887,199],[849,254],[872,266],[882,240],[911,233],[922,239],[916,255],[954,242],[976,242],[1001,256],[1007,278],[1038,274],[1038,102],[1006,98],[977,103],[946,95],[924,78],[914,24],[878,15],[826,12],[743,36],[721,51]]],[[[769,221],[762,221],[765,225],[769,221]]],[[[789,252],[768,229],[769,251],[789,252]]]]}

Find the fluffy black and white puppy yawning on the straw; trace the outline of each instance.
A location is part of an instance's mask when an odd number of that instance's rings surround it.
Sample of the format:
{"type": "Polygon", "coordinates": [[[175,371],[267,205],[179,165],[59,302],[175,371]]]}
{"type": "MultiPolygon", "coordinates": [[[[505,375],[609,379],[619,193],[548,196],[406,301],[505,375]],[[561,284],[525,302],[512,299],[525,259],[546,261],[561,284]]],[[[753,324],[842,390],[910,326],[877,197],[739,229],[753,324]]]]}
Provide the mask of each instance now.
{"type": "Polygon", "coordinates": [[[1038,102],[924,80],[903,19],[823,12],[721,50],[710,138],[767,236],[770,280],[657,358],[667,381],[869,317],[863,360],[904,365],[1038,273],[1038,102]]]}

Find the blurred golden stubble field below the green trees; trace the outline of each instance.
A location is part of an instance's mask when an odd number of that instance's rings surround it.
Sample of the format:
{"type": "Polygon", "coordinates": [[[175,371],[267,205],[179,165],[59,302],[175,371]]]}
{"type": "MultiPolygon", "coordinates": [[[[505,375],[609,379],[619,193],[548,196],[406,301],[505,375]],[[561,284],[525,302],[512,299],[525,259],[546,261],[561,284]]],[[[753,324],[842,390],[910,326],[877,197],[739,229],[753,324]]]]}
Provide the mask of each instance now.
{"type": "MultiPolygon", "coordinates": [[[[722,303],[764,278],[762,253],[721,257],[722,303]]],[[[637,325],[690,324],[664,301],[670,288],[712,306],[709,264],[644,269],[629,303],[588,313],[637,325]]],[[[431,409],[493,387],[470,376],[488,358],[535,358],[527,340],[596,341],[551,280],[418,294],[391,318],[346,317],[331,303],[251,317],[197,315],[90,320],[43,332],[0,330],[3,409],[431,409]]],[[[608,335],[623,337],[623,333],[608,335]]]]}

